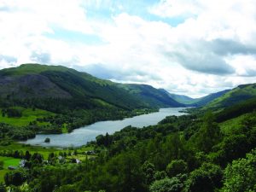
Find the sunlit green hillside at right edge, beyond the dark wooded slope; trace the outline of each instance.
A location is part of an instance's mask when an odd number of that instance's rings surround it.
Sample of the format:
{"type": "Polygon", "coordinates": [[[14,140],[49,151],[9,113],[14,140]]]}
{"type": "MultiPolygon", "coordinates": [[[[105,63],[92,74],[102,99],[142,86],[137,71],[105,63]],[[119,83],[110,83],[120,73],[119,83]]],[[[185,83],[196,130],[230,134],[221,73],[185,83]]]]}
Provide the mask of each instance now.
{"type": "Polygon", "coordinates": [[[227,108],[256,97],[256,84],[241,84],[209,102],[205,108],[227,108]]]}

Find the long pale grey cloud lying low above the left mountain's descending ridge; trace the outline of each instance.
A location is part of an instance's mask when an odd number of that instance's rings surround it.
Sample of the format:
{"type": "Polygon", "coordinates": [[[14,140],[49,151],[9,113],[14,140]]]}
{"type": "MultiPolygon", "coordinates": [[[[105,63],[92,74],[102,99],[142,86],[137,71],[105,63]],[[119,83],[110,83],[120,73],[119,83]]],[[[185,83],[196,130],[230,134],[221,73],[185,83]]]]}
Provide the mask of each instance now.
{"type": "Polygon", "coordinates": [[[101,79],[115,79],[119,81],[145,82],[148,80],[162,80],[158,75],[143,72],[137,69],[122,70],[121,68],[111,68],[102,64],[91,64],[84,67],[74,66],[79,71],[90,73],[101,79]]]}

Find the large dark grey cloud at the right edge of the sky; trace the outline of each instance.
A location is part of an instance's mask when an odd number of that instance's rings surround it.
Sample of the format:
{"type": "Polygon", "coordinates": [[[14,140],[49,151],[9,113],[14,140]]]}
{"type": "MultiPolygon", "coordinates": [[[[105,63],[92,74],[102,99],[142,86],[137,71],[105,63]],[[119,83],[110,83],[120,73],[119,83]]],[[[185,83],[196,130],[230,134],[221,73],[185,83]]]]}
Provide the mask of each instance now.
{"type": "MultiPolygon", "coordinates": [[[[256,46],[242,44],[240,41],[218,38],[212,41],[196,40],[179,44],[172,52],[163,50],[171,61],[177,61],[183,67],[199,73],[227,75],[235,73],[224,58],[230,55],[256,56],[256,46]]],[[[248,70],[244,76],[255,76],[256,72],[248,70]]]]}

